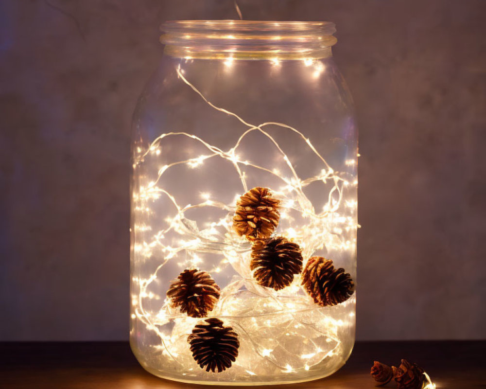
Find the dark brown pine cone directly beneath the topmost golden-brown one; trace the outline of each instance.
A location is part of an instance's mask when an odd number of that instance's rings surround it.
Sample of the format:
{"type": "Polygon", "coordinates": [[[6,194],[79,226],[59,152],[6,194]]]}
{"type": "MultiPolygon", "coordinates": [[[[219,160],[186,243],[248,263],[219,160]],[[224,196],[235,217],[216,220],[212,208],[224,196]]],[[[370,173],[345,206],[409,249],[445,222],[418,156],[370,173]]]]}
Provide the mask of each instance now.
{"type": "Polygon", "coordinates": [[[280,290],[302,271],[301,248],[283,236],[257,241],[252,247],[250,269],[262,286],[280,290]]]}

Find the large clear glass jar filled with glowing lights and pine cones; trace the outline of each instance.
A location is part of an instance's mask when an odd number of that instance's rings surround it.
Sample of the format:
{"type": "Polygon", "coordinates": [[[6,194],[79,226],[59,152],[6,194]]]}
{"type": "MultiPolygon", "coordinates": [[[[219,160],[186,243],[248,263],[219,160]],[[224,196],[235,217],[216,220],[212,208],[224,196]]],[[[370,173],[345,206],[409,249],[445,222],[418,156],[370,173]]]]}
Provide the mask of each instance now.
{"type": "Polygon", "coordinates": [[[354,343],[358,227],[334,24],[162,30],[133,121],[132,350],[191,383],[330,375],[354,343]]]}

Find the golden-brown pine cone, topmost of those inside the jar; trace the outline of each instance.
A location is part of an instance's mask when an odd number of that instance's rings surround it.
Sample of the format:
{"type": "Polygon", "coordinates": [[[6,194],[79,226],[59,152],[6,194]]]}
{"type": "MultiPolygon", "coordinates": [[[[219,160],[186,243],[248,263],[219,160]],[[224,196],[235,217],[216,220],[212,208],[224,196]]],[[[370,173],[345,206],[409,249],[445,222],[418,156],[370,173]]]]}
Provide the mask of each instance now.
{"type": "Polygon", "coordinates": [[[236,202],[233,229],[251,241],[268,238],[280,220],[279,204],[280,200],[272,197],[270,189],[250,189],[236,202]]]}

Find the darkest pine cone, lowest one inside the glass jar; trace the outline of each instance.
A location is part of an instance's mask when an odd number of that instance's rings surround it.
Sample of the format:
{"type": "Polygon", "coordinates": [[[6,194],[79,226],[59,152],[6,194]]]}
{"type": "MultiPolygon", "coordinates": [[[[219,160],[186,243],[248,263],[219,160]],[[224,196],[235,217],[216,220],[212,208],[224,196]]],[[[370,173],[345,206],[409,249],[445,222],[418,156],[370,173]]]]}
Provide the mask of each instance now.
{"type": "Polygon", "coordinates": [[[208,318],[196,324],[187,338],[192,357],[206,371],[218,373],[231,367],[238,356],[240,342],[232,327],[223,326],[218,318],[208,318]],[[205,323],[205,322],[206,323],[205,323]]]}

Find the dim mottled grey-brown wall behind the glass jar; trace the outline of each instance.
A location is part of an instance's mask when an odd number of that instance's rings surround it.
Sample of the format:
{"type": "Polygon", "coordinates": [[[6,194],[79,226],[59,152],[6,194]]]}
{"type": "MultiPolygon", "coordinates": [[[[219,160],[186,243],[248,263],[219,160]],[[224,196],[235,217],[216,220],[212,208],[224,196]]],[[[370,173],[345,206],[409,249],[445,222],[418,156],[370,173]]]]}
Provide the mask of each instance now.
{"type": "MultiPolygon", "coordinates": [[[[360,126],[358,338],[485,338],[486,1],[240,0],[331,20],[360,126]]],[[[165,19],[232,0],[0,0],[0,339],[126,339],[129,126],[165,19]]]]}

